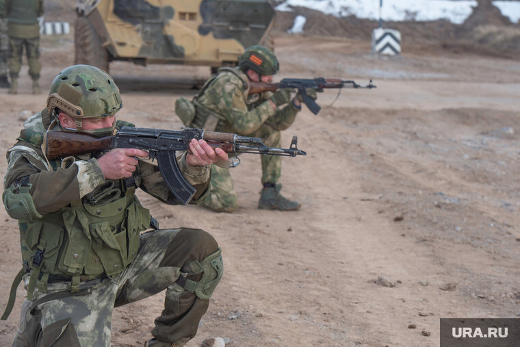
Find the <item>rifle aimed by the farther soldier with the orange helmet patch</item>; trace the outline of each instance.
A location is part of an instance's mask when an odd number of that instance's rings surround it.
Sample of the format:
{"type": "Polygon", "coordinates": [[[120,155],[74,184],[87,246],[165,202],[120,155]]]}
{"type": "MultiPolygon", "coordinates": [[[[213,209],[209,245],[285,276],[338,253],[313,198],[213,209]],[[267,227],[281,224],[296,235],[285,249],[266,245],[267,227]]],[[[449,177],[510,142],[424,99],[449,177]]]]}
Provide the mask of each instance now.
{"type": "MultiPolygon", "coordinates": [[[[317,92],[323,92],[324,88],[377,88],[372,84],[372,79],[367,85],[358,84],[354,81],[346,81],[345,79],[335,78],[315,78],[315,79],[300,79],[300,78],[284,78],[278,83],[264,83],[264,82],[249,82],[249,94],[258,94],[262,92],[274,92],[281,88],[294,88],[302,94],[302,99],[305,105],[313,114],[317,114],[322,110],[322,107],[316,103],[309,95],[305,94],[306,88],[311,88],[317,92]]],[[[339,93],[338,93],[339,96],[339,93]]]]}

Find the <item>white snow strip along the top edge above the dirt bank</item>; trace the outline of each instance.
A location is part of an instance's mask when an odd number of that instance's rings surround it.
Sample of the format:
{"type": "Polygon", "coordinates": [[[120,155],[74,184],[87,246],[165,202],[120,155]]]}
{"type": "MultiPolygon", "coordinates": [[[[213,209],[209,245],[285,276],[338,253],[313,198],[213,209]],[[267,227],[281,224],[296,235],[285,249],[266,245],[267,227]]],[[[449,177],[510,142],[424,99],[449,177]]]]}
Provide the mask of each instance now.
{"type": "MultiPolygon", "coordinates": [[[[302,6],[338,17],[354,15],[358,18],[378,20],[379,3],[380,0],[287,0],[278,5],[276,10],[291,11],[290,6],[302,6]]],[[[493,3],[504,16],[510,18],[510,21],[519,22],[520,1],[493,3]]],[[[476,5],[476,0],[382,0],[381,16],[383,21],[435,21],[444,18],[460,24],[476,5]]]]}

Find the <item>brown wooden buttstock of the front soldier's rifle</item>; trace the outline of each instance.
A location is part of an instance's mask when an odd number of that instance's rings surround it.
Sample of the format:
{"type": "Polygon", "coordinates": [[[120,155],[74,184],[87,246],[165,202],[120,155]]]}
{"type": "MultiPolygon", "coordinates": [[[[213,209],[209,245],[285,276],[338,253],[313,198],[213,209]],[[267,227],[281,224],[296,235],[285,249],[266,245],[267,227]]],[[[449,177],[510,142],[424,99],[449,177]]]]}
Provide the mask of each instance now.
{"type": "Polygon", "coordinates": [[[47,159],[55,160],[112,148],[112,136],[96,138],[84,133],[49,130],[47,132],[47,159]]]}

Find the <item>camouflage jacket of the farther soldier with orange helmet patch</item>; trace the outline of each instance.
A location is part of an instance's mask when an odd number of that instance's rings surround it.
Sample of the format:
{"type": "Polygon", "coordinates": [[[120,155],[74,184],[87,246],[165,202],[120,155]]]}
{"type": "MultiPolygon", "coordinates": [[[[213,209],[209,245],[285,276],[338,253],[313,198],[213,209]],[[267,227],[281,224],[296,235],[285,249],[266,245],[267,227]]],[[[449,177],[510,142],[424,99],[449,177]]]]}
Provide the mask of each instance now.
{"type": "Polygon", "coordinates": [[[285,130],[300,110],[293,103],[274,109],[268,99],[272,92],[249,94],[249,79],[239,68],[222,68],[203,87],[195,99],[225,119],[218,131],[249,135],[264,123],[276,130],[285,130]]]}

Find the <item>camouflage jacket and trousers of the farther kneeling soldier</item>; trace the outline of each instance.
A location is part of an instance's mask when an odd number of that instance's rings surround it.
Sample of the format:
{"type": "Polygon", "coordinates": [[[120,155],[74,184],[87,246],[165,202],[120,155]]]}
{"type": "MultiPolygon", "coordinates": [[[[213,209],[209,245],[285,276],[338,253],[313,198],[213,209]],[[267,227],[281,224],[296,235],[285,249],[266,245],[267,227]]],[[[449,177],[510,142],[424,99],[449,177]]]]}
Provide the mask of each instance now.
{"type": "MultiPolygon", "coordinates": [[[[248,95],[249,79],[239,68],[221,68],[216,77],[207,81],[203,92],[194,99],[196,116],[192,126],[208,129],[198,123],[201,112],[211,112],[216,120],[216,131],[239,133],[261,138],[270,147],[281,147],[281,130],[287,129],[301,107],[289,103],[274,109],[268,99],[272,92],[248,95]],[[216,119],[218,118],[218,120],[216,119]]],[[[262,183],[276,183],[281,175],[282,159],[276,155],[262,155],[262,183]]],[[[228,170],[213,165],[211,192],[204,205],[216,211],[233,211],[237,208],[237,195],[228,170]]]]}

